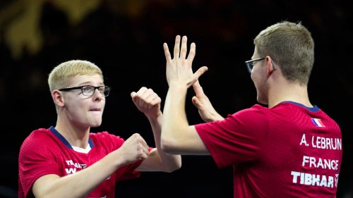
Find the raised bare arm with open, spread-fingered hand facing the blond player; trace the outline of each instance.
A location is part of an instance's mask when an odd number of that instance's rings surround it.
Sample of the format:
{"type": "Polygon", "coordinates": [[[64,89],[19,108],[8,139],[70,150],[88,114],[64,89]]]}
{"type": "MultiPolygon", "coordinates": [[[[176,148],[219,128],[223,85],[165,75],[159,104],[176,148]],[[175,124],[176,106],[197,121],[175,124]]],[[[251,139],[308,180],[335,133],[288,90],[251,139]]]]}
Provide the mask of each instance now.
{"type": "Polygon", "coordinates": [[[183,37],[181,49],[179,48],[180,39],[179,35],[175,39],[173,59],[167,44],[163,45],[167,60],[166,74],[169,89],[163,110],[162,148],[172,154],[209,154],[195,127],[189,125],[185,113],[187,89],[208,68],[202,67],[193,73],[191,66],[196,45],[191,44],[189,56],[186,58],[187,38],[183,37]]]}

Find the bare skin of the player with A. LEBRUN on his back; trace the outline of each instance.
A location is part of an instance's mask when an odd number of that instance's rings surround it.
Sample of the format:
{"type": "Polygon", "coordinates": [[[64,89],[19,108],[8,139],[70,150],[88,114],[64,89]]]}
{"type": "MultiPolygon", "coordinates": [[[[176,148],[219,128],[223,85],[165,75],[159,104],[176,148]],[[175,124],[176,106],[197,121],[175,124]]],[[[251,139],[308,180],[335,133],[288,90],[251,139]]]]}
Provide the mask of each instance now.
{"type": "MultiPolygon", "coordinates": [[[[192,62],[196,54],[196,45],[191,43],[189,55],[187,51],[187,37],[177,35],[174,44],[173,58],[168,45],[163,44],[166,57],[166,75],[169,89],[163,110],[162,149],[170,154],[203,155],[210,154],[203,144],[194,125],[189,125],[185,112],[186,92],[191,85],[196,92],[193,104],[198,108],[201,118],[205,121],[222,120],[209,99],[203,93],[198,78],[208,70],[203,66],[193,73],[192,62]]],[[[259,58],[254,49],[252,58],[259,58]]],[[[282,101],[295,101],[312,107],[306,85],[299,82],[289,82],[282,75],[280,65],[273,66],[270,56],[262,61],[256,61],[251,73],[251,80],[256,87],[257,100],[261,104],[268,104],[268,108],[282,101]]]]}

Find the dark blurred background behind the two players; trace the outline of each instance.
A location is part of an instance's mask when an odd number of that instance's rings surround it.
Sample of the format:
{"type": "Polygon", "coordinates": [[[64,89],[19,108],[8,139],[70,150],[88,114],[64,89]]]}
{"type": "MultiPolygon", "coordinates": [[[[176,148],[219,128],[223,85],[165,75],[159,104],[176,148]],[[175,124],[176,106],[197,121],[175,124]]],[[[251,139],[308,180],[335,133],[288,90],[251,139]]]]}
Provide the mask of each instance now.
{"type": "MultiPolygon", "coordinates": [[[[337,197],[353,197],[352,6],[348,1],[0,1],[0,197],[17,197],[18,152],[32,130],[56,123],[47,77],[61,62],[84,59],[102,68],[112,87],[104,120],[124,139],[140,132],[154,146],[148,120],[130,92],[152,88],[167,94],[162,44],[176,35],[196,42],[193,68],[208,66],[201,85],[215,109],[227,116],[256,104],[244,61],[253,38],[268,25],[289,20],[311,31],[316,61],[309,82],[312,104],[342,130],[343,160],[337,197]],[[351,164],[351,165],[349,165],[351,164]]],[[[188,92],[189,123],[202,122],[188,92]]],[[[271,179],[271,178],[269,178],[271,179]]],[[[84,185],[84,184],[83,184],[84,185]]],[[[232,168],[218,169],[210,156],[183,156],[174,173],[143,173],[118,183],[118,197],[232,197],[232,168]]]]}

